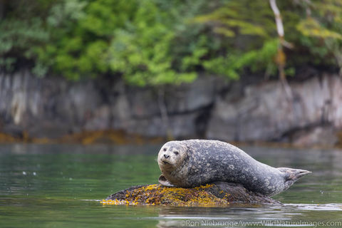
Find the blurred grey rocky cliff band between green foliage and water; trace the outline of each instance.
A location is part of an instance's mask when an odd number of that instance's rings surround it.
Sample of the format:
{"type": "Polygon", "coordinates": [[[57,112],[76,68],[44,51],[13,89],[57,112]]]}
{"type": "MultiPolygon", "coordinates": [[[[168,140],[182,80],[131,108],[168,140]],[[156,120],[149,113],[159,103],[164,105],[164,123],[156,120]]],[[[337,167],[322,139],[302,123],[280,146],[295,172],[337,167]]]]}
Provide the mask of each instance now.
{"type": "Polygon", "coordinates": [[[66,81],[30,71],[0,75],[0,132],[61,138],[122,130],[147,138],[215,138],[334,145],[342,129],[342,78],[321,74],[289,83],[201,75],[192,84],[126,86],[115,78],[66,81]]]}

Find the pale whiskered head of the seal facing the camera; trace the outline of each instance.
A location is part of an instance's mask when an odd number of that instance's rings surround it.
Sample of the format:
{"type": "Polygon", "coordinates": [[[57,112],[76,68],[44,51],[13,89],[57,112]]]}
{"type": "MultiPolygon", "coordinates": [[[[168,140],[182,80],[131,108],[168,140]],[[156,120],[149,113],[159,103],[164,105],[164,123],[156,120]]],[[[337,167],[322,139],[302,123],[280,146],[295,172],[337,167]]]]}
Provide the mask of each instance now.
{"type": "Polygon", "coordinates": [[[180,141],[166,142],[158,153],[158,165],[160,170],[172,171],[182,165],[187,155],[187,147],[180,141]]]}

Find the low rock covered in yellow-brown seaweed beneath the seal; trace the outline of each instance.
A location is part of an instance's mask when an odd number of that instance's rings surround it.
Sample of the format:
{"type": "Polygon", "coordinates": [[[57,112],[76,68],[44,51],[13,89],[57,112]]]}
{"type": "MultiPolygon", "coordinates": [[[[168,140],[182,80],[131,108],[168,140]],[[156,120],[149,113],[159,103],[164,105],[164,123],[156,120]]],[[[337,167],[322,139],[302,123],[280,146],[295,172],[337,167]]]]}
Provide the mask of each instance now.
{"type": "Polygon", "coordinates": [[[214,182],[194,188],[138,185],[114,193],[105,204],[165,205],[177,207],[229,207],[232,204],[281,204],[242,185],[214,182]]]}

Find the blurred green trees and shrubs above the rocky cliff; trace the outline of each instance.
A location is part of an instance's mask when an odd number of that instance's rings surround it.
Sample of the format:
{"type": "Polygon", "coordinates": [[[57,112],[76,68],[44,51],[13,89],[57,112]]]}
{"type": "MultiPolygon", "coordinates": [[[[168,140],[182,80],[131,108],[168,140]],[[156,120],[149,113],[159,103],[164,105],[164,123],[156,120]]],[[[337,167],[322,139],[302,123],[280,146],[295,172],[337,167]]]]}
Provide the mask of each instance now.
{"type": "MultiPolygon", "coordinates": [[[[342,68],[342,0],[277,1],[286,74],[342,68]]],[[[3,0],[0,67],[36,76],[104,75],[137,85],[193,81],[199,71],[236,80],[277,76],[280,45],[269,1],[3,0]]]]}

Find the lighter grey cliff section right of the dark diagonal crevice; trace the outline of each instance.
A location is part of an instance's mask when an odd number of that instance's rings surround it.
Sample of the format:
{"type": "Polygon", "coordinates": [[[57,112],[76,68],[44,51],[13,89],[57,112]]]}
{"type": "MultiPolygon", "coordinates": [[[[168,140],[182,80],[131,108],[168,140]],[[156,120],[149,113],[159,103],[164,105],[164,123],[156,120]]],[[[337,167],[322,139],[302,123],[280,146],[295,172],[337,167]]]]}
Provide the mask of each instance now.
{"type": "Polygon", "coordinates": [[[324,75],[290,83],[290,98],[276,81],[247,86],[238,99],[236,94],[227,93],[215,102],[207,138],[284,140],[284,135],[312,125],[342,128],[341,86],[341,77],[324,75]]]}

